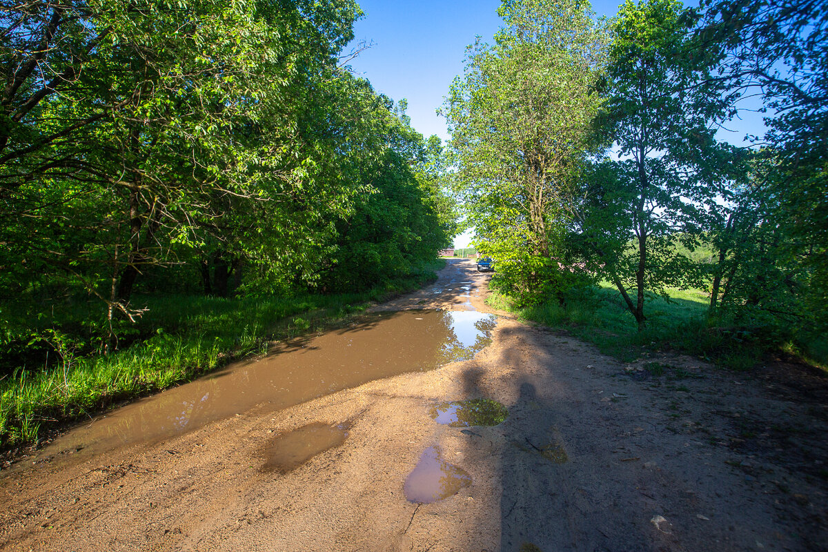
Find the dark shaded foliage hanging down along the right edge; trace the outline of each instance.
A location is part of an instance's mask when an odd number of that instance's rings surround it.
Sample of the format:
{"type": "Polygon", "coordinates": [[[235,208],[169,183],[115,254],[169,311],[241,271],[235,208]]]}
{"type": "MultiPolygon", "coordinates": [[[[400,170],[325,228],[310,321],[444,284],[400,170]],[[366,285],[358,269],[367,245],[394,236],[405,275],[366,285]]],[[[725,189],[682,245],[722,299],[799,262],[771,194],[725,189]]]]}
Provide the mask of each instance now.
{"type": "MultiPolygon", "coordinates": [[[[706,0],[688,23],[696,38],[720,56],[714,78],[745,95],[761,96],[761,111],[767,113],[769,130],[758,152],[763,166],[754,166],[748,193],[741,194],[748,208],[734,210],[727,233],[742,239],[731,249],[724,247],[732,252],[731,263],[737,258],[745,262],[742,286],[748,288],[751,280],[759,284],[745,295],[747,310],[776,327],[779,320],[773,318],[782,314],[806,334],[824,333],[828,15],[812,0],[706,0]],[[745,254],[739,255],[742,249],[745,254]],[[767,267],[753,262],[756,257],[767,267]],[[762,284],[768,288],[759,289],[762,284]],[[759,296],[764,299],[757,300],[759,296]],[[804,318],[793,321],[792,315],[804,318]]],[[[733,306],[739,305],[730,310],[733,306]]]]}

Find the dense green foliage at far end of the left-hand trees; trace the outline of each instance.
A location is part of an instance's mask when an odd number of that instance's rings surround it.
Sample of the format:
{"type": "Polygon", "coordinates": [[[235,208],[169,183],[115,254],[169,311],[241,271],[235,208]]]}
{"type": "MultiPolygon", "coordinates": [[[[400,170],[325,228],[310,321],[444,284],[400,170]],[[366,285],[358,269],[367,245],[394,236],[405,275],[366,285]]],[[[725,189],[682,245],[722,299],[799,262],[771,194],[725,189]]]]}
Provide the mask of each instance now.
{"type": "MultiPolygon", "coordinates": [[[[373,93],[368,99],[373,98],[373,93]]],[[[453,214],[445,209],[439,182],[439,138],[423,141],[407,122],[405,104],[389,110],[367,104],[373,136],[390,147],[377,160],[362,161],[370,194],[335,222],[337,247],[320,266],[319,286],[363,289],[406,274],[450,243],[453,214]]]]}

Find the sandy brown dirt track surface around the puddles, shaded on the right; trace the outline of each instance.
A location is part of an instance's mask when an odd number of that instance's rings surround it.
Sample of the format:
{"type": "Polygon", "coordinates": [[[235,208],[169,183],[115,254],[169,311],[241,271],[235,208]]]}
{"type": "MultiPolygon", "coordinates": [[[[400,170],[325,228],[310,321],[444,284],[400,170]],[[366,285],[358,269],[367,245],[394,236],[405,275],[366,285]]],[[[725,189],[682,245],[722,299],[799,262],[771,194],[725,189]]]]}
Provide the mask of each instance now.
{"type": "MultiPolygon", "coordinates": [[[[377,310],[486,311],[488,278],[453,261],[377,310]]],[[[0,473],[0,550],[828,550],[826,399],[819,377],[624,365],[503,317],[465,362],[0,473]],[[508,419],[428,415],[477,397],[508,419]],[[289,473],[262,468],[274,436],[316,422],[348,436],[289,473]],[[472,482],[408,502],[433,446],[472,482]]]]}

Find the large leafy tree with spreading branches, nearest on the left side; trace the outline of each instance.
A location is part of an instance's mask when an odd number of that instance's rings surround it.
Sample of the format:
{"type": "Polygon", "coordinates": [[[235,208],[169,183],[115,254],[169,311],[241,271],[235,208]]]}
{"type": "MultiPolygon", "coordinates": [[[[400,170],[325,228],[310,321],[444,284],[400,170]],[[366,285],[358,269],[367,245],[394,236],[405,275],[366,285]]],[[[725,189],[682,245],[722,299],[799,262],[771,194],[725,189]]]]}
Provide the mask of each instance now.
{"type": "Polygon", "coordinates": [[[306,90],[334,76],[359,14],[349,0],[7,6],[0,241],[128,312],[172,241],[305,194],[307,167],[334,155],[300,135],[306,90]],[[41,226],[52,239],[33,243],[41,226]]]}

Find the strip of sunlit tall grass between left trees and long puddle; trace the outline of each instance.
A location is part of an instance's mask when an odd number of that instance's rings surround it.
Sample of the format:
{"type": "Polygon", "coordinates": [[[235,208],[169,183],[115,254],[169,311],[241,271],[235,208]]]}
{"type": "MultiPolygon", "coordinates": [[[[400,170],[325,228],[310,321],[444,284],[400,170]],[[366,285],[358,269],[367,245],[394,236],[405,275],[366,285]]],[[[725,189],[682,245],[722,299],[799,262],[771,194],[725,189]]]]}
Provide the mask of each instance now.
{"type": "Polygon", "coordinates": [[[75,356],[56,347],[60,362],[17,370],[0,380],[0,448],[35,442],[44,430],[118,401],[199,377],[227,362],[267,353],[268,343],[323,329],[371,301],[388,300],[428,281],[445,266],[436,260],[420,272],[360,293],[255,297],[142,298],[141,325],[152,332],[117,353],[75,356]]]}

